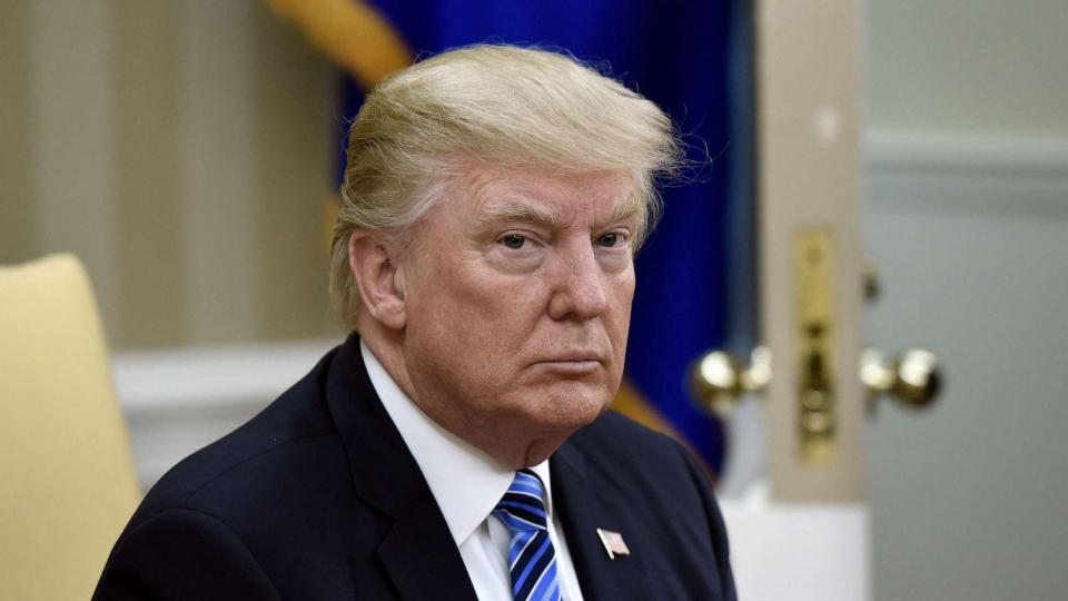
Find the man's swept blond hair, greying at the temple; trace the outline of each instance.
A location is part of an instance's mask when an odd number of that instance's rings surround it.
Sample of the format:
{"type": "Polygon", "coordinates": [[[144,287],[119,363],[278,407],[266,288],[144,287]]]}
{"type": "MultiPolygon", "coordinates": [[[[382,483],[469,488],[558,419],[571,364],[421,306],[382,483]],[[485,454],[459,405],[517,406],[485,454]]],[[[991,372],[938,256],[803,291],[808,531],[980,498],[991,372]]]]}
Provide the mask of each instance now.
{"type": "Polygon", "coordinates": [[[642,215],[635,248],[659,215],[657,179],[682,164],[671,119],[625,86],[556,52],[471,46],[384,79],[349,130],[334,226],[330,302],[356,327],[348,265],[356,230],[403,233],[455,175],[456,157],[566,173],[624,171],[642,215]]]}

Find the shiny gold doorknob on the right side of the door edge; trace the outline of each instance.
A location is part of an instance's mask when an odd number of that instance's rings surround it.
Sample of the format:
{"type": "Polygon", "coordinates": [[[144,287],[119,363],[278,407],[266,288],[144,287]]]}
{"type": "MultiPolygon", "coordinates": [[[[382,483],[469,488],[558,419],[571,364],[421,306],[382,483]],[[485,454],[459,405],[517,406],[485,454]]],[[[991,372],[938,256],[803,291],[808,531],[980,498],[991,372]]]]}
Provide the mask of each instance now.
{"type": "Polygon", "coordinates": [[[868,388],[868,410],[873,411],[878,397],[890,394],[910,407],[930,405],[942,386],[938,357],[929,351],[912,348],[893,362],[882,353],[866,348],[860,355],[860,381],[868,388]]]}

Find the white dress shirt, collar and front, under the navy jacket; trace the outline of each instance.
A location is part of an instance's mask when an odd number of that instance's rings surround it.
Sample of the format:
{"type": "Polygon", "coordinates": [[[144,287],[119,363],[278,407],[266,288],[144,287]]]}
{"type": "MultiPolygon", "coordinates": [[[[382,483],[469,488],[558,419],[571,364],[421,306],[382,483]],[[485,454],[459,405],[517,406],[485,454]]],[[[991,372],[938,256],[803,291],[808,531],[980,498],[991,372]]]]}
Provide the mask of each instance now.
{"type": "MultiPolygon", "coordinates": [[[[423,471],[437,506],[445,516],[478,599],[512,599],[508,529],[491,513],[512,484],[515,472],[501,466],[481,450],[427,417],[397,386],[363,341],[359,349],[375,392],[423,471]]],[[[556,550],[561,594],[566,601],[582,601],[567,542],[560,519],[553,511],[548,461],[533,465],[531,470],[545,485],[548,534],[556,550]]]]}

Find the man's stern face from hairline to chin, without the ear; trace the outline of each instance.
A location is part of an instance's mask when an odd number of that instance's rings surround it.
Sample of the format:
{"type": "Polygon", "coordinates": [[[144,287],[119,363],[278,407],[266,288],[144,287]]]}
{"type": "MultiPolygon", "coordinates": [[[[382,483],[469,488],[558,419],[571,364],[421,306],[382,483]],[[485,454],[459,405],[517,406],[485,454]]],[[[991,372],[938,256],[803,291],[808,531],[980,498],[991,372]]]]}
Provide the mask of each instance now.
{"type": "Polygon", "coordinates": [[[623,374],[640,218],[621,173],[471,167],[402,267],[416,403],[505,463],[547,457],[623,374]]]}

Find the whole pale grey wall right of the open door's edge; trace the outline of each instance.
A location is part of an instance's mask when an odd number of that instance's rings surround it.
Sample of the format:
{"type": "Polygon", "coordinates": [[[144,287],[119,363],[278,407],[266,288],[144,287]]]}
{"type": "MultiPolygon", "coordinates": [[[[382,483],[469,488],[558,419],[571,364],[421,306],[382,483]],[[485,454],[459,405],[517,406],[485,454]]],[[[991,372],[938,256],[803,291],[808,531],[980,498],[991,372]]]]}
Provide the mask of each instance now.
{"type": "Polygon", "coordinates": [[[930,411],[869,428],[880,601],[1068,590],[1068,3],[870,0],[869,337],[930,411]]]}

